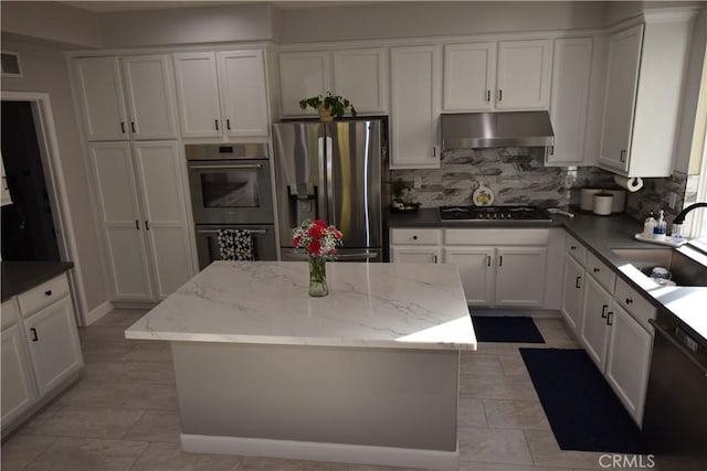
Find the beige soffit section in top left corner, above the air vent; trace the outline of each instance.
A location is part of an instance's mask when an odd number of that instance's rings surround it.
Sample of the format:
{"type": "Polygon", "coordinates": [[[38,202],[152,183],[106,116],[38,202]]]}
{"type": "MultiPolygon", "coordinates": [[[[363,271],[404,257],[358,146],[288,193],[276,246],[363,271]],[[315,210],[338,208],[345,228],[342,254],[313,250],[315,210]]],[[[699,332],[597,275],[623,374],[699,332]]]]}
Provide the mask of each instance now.
{"type": "MultiPolygon", "coordinates": [[[[56,2],[0,2],[2,34],[21,35],[80,47],[99,47],[97,18],[56,2]]],[[[3,47],[4,38],[3,38],[3,47]]]]}

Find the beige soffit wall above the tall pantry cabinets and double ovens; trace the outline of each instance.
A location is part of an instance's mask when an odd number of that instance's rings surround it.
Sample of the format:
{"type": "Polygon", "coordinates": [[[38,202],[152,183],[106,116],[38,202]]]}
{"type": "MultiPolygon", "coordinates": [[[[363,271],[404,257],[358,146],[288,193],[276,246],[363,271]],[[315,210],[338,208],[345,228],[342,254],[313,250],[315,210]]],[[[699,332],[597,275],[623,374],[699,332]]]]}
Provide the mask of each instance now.
{"type": "Polygon", "coordinates": [[[267,4],[103,13],[98,21],[104,47],[273,39],[267,4]]]}

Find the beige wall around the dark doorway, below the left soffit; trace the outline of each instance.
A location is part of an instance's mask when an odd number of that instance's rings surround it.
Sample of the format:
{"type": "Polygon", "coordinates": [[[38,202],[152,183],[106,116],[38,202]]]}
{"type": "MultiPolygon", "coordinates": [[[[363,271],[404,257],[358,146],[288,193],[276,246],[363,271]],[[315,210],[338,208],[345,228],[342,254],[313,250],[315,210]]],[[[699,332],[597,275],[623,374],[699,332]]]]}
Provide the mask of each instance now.
{"type": "MultiPolygon", "coordinates": [[[[4,3],[4,2],[3,2],[4,3]]],[[[74,223],[88,310],[106,302],[108,293],[101,269],[98,242],[94,228],[88,192],[88,173],[84,164],[78,125],[74,115],[68,72],[59,47],[3,41],[2,49],[20,53],[23,77],[2,77],[2,92],[44,92],[52,104],[65,193],[74,223]]]]}

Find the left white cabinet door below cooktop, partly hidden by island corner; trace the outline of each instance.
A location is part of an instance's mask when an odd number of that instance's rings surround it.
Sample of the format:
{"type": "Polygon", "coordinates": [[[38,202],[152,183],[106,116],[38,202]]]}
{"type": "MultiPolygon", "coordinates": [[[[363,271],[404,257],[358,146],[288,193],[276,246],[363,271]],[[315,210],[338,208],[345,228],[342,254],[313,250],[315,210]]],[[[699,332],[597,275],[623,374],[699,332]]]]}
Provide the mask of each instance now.
{"type": "Polygon", "coordinates": [[[444,263],[454,264],[460,269],[464,296],[469,306],[493,306],[494,247],[447,247],[444,263]]]}

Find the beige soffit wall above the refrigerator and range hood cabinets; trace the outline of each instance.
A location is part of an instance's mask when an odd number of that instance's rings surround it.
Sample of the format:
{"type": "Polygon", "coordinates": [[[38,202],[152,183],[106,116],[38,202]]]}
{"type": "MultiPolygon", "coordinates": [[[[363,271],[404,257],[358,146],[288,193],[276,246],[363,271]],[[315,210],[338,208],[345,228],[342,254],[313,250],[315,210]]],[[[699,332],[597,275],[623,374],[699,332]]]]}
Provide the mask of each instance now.
{"type": "Polygon", "coordinates": [[[601,28],[604,2],[400,2],[284,8],[275,13],[277,41],[445,36],[567,28],[601,28]]]}

